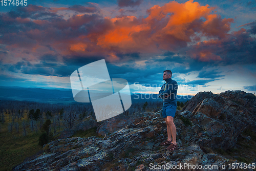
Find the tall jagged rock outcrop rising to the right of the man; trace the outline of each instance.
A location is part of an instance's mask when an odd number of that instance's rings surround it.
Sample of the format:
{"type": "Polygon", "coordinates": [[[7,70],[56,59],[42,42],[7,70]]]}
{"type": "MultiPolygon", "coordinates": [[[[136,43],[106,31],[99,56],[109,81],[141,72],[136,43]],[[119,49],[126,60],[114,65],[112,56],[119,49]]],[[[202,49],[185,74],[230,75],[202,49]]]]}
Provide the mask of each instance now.
{"type": "Polygon", "coordinates": [[[184,117],[193,121],[197,134],[205,135],[199,144],[228,149],[248,126],[256,131],[256,100],[247,99],[246,95],[243,91],[200,92],[188,101],[182,111],[192,112],[184,117]]]}

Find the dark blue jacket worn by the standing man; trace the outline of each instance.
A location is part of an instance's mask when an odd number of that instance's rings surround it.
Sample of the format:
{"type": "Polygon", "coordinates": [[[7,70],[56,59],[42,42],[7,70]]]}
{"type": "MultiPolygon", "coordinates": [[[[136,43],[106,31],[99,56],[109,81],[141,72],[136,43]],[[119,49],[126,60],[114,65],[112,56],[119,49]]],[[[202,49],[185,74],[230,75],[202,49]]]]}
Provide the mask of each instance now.
{"type": "Polygon", "coordinates": [[[163,99],[163,106],[175,105],[177,106],[177,90],[178,83],[172,78],[168,78],[166,81],[166,89],[164,91],[165,84],[161,87],[158,93],[158,97],[163,99]],[[168,97],[166,97],[168,95],[168,97]]]}

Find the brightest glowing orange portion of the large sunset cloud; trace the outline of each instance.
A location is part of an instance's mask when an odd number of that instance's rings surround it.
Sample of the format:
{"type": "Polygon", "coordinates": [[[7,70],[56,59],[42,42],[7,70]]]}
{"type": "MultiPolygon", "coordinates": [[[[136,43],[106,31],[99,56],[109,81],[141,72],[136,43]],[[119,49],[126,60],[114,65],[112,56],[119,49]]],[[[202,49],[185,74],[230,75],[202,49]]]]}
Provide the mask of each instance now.
{"type": "MultiPolygon", "coordinates": [[[[147,10],[146,18],[135,16],[105,17],[109,28],[101,33],[91,33],[88,38],[103,49],[122,52],[177,51],[186,47],[196,32],[202,36],[224,37],[230,30],[231,18],[210,14],[215,7],[201,6],[190,0],[186,3],[169,2],[147,10]],[[203,21],[203,19],[205,21],[203,21]]],[[[200,37],[197,37],[200,41],[200,37]]],[[[205,60],[209,53],[202,53],[205,60]]],[[[219,57],[210,55],[210,59],[219,57]]]]}

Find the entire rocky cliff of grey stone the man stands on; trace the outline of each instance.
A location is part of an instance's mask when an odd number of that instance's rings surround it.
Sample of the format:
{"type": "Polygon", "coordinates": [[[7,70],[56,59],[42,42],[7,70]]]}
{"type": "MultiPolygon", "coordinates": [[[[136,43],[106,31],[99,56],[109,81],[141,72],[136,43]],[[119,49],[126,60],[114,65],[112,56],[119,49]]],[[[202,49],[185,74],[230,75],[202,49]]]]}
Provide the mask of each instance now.
{"type": "Polygon", "coordinates": [[[198,93],[182,111],[176,111],[178,149],[174,152],[159,145],[167,137],[161,111],[118,115],[98,125],[97,133],[104,138],[62,137],[13,170],[168,170],[168,164],[183,166],[179,170],[193,170],[186,164],[202,166],[194,170],[229,170],[239,162],[256,166],[256,97],[251,95],[242,91],[198,93]],[[217,167],[204,168],[209,165],[217,167]]]}

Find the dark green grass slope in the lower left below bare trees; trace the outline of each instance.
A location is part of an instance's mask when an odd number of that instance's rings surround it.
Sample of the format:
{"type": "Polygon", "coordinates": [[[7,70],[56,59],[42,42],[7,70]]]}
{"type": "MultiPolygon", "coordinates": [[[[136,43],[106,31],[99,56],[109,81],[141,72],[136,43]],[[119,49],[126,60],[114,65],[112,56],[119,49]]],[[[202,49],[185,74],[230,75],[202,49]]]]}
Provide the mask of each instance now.
{"type": "Polygon", "coordinates": [[[34,135],[32,135],[31,130],[27,127],[27,136],[23,136],[23,120],[29,121],[27,113],[24,114],[22,120],[19,119],[18,121],[19,133],[16,132],[14,126],[12,133],[10,133],[8,125],[12,121],[9,120],[9,114],[5,114],[6,122],[4,124],[1,123],[0,132],[0,171],[11,170],[13,166],[22,163],[26,158],[42,150],[42,147],[38,145],[41,131],[38,129],[38,132],[35,133],[34,131],[34,135]]]}

